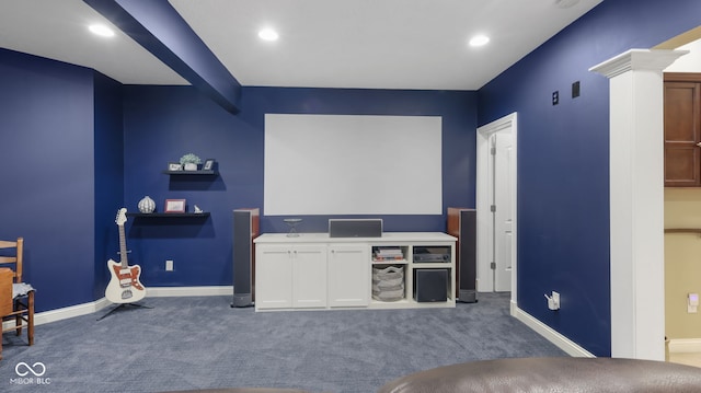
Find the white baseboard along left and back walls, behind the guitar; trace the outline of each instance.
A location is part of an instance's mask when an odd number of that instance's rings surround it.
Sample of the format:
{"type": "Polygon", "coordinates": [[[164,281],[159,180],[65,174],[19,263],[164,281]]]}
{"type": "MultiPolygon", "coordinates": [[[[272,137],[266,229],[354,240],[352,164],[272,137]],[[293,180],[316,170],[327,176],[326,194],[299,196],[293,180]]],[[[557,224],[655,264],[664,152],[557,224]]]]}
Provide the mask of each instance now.
{"type": "MultiPolygon", "coordinates": [[[[227,296],[233,297],[233,287],[151,287],[146,289],[146,296],[152,298],[166,297],[197,297],[197,296],[227,296]]],[[[38,294],[37,294],[38,296],[38,294]]],[[[90,303],[77,304],[50,311],[37,312],[34,314],[34,325],[67,320],[69,317],[92,314],[106,307],[112,305],[107,299],[97,299],[90,303]]],[[[10,327],[10,322],[5,322],[3,327],[10,327]]]]}

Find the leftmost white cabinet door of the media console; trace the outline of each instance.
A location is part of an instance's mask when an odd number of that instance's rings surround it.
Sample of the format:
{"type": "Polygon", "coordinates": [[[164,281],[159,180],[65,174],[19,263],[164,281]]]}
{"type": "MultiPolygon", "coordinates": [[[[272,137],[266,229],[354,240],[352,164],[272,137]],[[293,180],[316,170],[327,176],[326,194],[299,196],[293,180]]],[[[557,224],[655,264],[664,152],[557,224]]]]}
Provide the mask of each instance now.
{"type": "Polygon", "coordinates": [[[255,308],[292,307],[292,252],[277,245],[255,247],[255,308]]]}

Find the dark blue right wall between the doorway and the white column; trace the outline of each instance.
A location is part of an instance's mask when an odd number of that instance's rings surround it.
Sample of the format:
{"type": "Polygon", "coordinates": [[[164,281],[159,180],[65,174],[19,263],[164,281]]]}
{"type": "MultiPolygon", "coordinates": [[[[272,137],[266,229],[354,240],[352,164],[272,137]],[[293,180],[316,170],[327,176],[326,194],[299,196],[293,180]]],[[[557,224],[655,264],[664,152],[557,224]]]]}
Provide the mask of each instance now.
{"type": "Polygon", "coordinates": [[[597,356],[611,350],[609,81],[588,69],[700,24],[697,0],[604,1],[479,92],[480,125],[518,112],[519,308],[597,356]]]}

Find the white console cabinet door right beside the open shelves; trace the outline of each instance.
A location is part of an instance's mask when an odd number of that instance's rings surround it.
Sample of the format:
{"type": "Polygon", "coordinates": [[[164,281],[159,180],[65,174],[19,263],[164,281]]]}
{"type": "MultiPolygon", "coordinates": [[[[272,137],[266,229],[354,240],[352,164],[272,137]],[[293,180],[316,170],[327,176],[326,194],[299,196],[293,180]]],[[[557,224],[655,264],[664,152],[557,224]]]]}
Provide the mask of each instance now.
{"type": "Polygon", "coordinates": [[[367,307],[370,266],[367,245],[332,245],[329,250],[329,305],[367,307]]]}

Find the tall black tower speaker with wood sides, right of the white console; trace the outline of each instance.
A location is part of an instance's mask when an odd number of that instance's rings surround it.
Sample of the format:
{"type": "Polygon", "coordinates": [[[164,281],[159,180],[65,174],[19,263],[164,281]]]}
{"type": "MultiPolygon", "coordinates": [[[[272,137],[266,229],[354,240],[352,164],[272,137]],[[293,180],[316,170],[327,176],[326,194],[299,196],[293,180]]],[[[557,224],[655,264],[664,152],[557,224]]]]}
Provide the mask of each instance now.
{"type": "Polygon", "coordinates": [[[448,234],[458,238],[456,245],[456,299],[463,303],[478,301],[476,210],[448,208],[448,234]]]}

